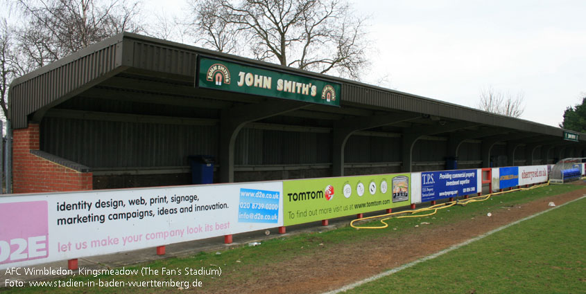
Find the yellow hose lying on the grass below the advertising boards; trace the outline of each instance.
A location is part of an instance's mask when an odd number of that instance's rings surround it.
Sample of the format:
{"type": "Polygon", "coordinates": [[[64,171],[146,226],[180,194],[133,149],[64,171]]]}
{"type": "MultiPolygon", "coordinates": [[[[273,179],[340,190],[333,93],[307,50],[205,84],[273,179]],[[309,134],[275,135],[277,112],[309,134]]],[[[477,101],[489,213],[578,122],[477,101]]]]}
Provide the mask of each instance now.
{"type": "Polygon", "coordinates": [[[487,201],[488,199],[490,199],[491,196],[495,196],[495,195],[499,195],[499,194],[504,194],[504,193],[508,193],[508,192],[515,192],[515,191],[524,191],[524,190],[531,190],[531,189],[535,189],[536,187],[544,187],[546,185],[549,185],[549,181],[547,183],[541,184],[541,185],[534,185],[531,187],[526,187],[526,188],[517,188],[515,190],[507,190],[507,191],[502,191],[502,192],[496,192],[496,193],[491,193],[488,195],[481,195],[481,196],[475,196],[472,198],[468,198],[468,199],[456,199],[455,201],[449,201],[446,203],[440,203],[440,204],[436,204],[436,205],[431,205],[427,208],[420,208],[418,210],[407,210],[407,211],[402,211],[402,212],[391,212],[391,213],[387,213],[387,214],[379,214],[379,215],[375,215],[372,217],[363,217],[361,219],[354,219],[352,221],[350,221],[350,226],[352,228],[355,229],[384,229],[388,227],[388,223],[386,223],[386,221],[388,221],[389,219],[392,219],[393,216],[395,214],[411,214],[411,215],[402,215],[399,217],[395,217],[395,219],[404,219],[407,217],[428,217],[430,215],[436,214],[438,212],[438,210],[444,209],[444,208],[449,208],[451,206],[454,205],[467,205],[468,203],[472,203],[472,202],[481,202],[481,201],[487,201]],[[481,199],[483,198],[483,199],[481,199]],[[418,212],[425,212],[425,211],[430,211],[433,210],[433,212],[429,213],[429,214],[417,214],[417,215],[413,215],[416,214],[418,212]],[[359,227],[359,226],[354,226],[354,222],[356,221],[365,221],[368,219],[377,219],[380,217],[384,217],[384,219],[381,219],[380,222],[383,223],[383,226],[370,226],[370,227],[359,227]]]}

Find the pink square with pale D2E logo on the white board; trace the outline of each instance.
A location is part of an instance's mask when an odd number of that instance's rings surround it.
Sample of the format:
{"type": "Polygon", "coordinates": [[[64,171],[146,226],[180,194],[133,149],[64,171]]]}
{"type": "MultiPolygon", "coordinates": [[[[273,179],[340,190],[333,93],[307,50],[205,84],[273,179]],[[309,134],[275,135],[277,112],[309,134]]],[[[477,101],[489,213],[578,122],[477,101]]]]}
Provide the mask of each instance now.
{"type": "Polygon", "coordinates": [[[46,201],[0,204],[0,264],[49,256],[46,201]]]}

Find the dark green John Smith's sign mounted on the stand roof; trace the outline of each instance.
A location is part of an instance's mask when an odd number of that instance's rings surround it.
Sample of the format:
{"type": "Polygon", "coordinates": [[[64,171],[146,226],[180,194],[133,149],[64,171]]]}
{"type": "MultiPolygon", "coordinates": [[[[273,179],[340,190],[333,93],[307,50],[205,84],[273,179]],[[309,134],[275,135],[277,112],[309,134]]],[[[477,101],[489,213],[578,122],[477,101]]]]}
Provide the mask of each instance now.
{"type": "Polygon", "coordinates": [[[199,57],[197,86],[340,106],[341,85],[220,59],[199,57]]]}

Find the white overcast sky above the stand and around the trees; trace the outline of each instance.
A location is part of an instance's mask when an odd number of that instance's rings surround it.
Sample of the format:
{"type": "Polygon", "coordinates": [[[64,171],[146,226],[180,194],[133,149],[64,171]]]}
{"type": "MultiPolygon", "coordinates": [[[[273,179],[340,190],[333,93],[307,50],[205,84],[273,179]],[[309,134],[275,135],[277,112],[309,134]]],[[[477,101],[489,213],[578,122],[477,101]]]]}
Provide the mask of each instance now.
{"type": "MultiPolygon", "coordinates": [[[[352,1],[352,0],[351,0],[352,1]]],[[[145,0],[172,15],[184,1],[145,0]]],[[[586,93],[586,1],[354,0],[375,49],[366,82],[467,107],[522,93],[522,119],[558,127],[586,93]]]]}

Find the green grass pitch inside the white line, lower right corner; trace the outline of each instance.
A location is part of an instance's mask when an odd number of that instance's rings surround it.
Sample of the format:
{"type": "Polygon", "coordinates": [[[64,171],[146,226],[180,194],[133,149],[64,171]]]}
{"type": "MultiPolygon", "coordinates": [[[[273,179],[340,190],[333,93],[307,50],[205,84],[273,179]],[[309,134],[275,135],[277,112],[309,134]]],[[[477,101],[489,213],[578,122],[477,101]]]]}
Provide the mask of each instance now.
{"type": "Polygon", "coordinates": [[[346,293],[586,293],[586,199],[346,293]]]}

